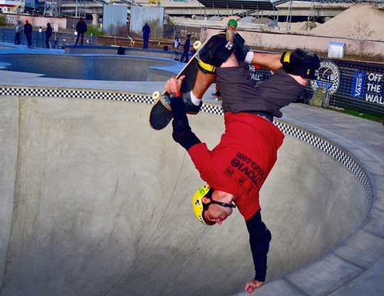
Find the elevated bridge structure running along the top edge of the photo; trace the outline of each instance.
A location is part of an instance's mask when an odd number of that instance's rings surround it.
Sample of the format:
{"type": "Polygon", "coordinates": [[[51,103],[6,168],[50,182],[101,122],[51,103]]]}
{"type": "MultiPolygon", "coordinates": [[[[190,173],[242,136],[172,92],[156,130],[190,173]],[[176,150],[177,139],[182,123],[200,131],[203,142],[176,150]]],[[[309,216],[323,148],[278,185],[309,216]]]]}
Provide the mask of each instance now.
{"type": "MultiPolygon", "coordinates": [[[[169,16],[205,17],[205,19],[228,15],[270,17],[273,20],[288,23],[292,17],[301,17],[308,21],[323,21],[335,17],[355,3],[370,3],[372,6],[384,8],[384,0],[48,0],[56,1],[59,7],[54,8],[58,15],[85,17],[93,15],[94,23],[103,14],[104,5],[162,7],[169,16]]],[[[52,15],[52,14],[50,14],[52,15]]]]}

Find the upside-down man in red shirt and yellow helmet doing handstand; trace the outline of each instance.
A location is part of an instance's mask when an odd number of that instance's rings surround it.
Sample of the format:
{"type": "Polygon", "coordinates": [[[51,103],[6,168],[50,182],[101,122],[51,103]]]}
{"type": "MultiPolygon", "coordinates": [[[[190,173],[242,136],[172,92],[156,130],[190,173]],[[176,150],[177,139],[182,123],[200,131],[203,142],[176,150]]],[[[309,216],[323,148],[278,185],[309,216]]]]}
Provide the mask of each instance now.
{"type": "MultiPolygon", "coordinates": [[[[273,116],[282,116],[280,108],[295,100],[309,79],[314,78],[319,57],[301,50],[285,52],[281,59],[272,54],[263,60],[256,54],[259,62],[269,63],[275,74],[254,88],[248,65],[239,63],[233,48],[221,47],[225,42],[218,45],[217,41],[200,53],[205,63],[202,68],[214,65],[221,84],[225,133],[214,149],[209,150],[189,127],[185,112],[193,102],[185,104],[182,99],[185,94],[179,93],[185,77],[169,79],[165,88],[172,97],[173,139],[188,151],[201,178],[207,182],[193,195],[195,216],[203,224],[222,224],[237,206],[246,220],[255,277],[246,283],[245,290],[252,293],[265,281],[271,241],[271,232],[262,222],[259,190],[276,162],[284,139],[272,123],[273,116]]],[[[214,76],[212,72],[198,74],[202,85],[196,85],[196,81],[195,88],[204,89],[214,76]]]]}

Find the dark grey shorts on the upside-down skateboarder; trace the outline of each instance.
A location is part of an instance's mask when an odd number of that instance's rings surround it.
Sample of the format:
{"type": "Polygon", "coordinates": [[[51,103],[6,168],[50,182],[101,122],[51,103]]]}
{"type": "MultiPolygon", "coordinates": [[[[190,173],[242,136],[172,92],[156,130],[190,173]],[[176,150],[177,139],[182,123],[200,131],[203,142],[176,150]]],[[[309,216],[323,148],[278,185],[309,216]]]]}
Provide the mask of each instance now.
{"type": "Polygon", "coordinates": [[[239,67],[217,68],[216,74],[223,110],[233,113],[262,112],[281,117],[280,108],[295,101],[305,87],[282,68],[256,87],[250,79],[249,65],[246,63],[241,63],[239,67]]]}

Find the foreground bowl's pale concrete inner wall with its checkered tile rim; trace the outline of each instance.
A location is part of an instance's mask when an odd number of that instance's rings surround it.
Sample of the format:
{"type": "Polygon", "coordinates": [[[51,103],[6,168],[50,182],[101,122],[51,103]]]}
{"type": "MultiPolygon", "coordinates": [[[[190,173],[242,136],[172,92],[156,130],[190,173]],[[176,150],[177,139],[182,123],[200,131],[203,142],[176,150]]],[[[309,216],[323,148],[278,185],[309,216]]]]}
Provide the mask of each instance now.
{"type": "MultiPolygon", "coordinates": [[[[0,87],[1,295],[243,290],[254,274],[243,217],[235,211],[220,227],[195,221],[191,194],[202,181],[170,127],[148,126],[152,102],[130,93],[0,87]]],[[[213,148],[222,111],[209,104],[202,111],[191,126],[213,148]]],[[[349,153],[275,124],[286,138],[260,193],[273,235],[269,280],[344,242],[372,198],[367,173],[349,153]]]]}

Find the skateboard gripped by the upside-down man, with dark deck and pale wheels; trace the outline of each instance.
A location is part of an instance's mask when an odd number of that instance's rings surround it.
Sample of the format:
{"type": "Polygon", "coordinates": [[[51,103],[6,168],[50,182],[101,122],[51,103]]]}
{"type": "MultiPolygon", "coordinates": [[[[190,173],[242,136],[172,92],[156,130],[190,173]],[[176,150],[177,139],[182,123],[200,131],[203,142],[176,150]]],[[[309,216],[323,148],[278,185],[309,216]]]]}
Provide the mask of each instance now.
{"type": "MultiPolygon", "coordinates": [[[[218,33],[218,35],[224,35],[225,38],[225,32],[224,33],[218,33]]],[[[193,86],[195,85],[195,79],[196,75],[198,74],[198,61],[199,61],[199,49],[201,49],[209,40],[205,40],[204,44],[202,44],[201,41],[195,41],[193,43],[193,48],[196,50],[195,54],[191,57],[188,63],[182,68],[182,70],[177,74],[176,79],[179,78],[182,75],[185,75],[185,79],[182,82],[182,88],[180,89],[180,93],[186,93],[188,91],[191,91],[193,89],[193,86]]],[[[172,111],[168,109],[166,106],[163,105],[161,102],[161,97],[166,94],[166,91],[163,91],[163,93],[160,93],[159,91],[155,91],[152,95],[152,98],[156,100],[154,103],[151,111],[150,111],[150,126],[154,130],[163,130],[168,123],[173,118],[172,111]]],[[[188,112],[187,112],[188,113],[188,112]]]]}

